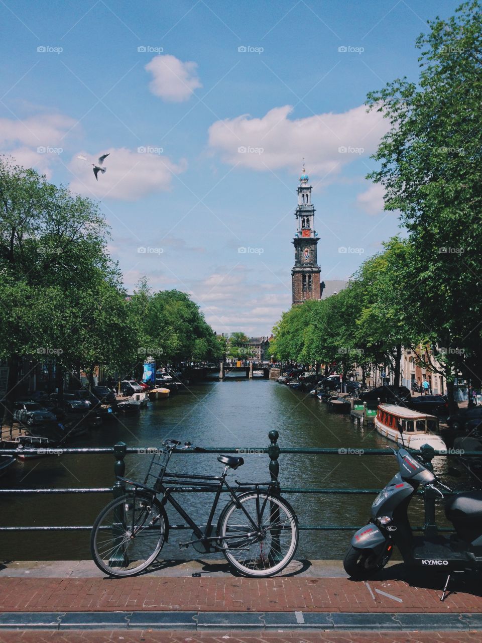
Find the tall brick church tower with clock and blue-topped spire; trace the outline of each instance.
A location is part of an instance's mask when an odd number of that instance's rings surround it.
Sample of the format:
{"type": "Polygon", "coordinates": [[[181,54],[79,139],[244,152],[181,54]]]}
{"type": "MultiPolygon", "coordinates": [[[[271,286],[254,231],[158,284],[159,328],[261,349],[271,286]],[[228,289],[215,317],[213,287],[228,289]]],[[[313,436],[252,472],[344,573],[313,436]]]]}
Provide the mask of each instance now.
{"type": "Polygon", "coordinates": [[[320,282],[320,267],[317,265],[316,245],[319,241],[315,230],[315,208],[311,203],[312,186],[308,185],[308,175],[303,172],[299,177],[298,207],[296,217],[296,234],[294,244],[294,266],[291,271],[293,288],[293,305],[303,303],[307,299],[321,299],[325,284],[320,282]]]}

